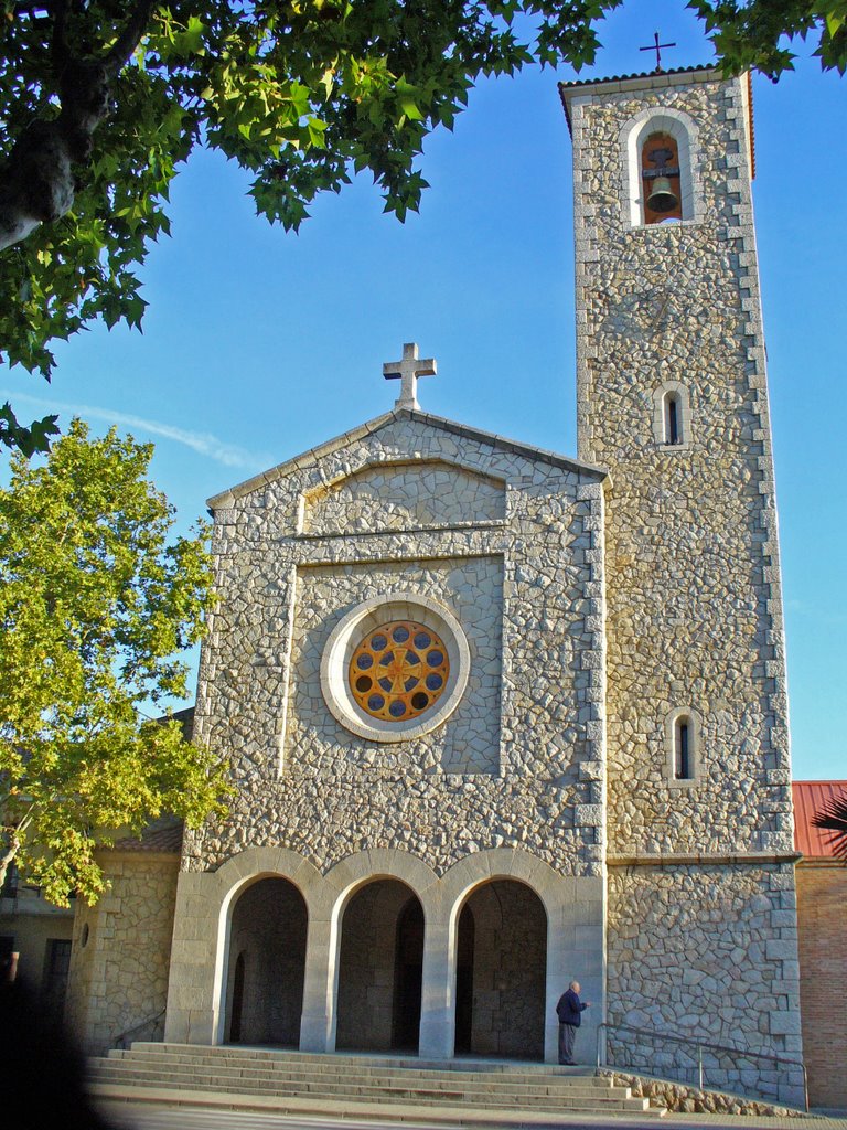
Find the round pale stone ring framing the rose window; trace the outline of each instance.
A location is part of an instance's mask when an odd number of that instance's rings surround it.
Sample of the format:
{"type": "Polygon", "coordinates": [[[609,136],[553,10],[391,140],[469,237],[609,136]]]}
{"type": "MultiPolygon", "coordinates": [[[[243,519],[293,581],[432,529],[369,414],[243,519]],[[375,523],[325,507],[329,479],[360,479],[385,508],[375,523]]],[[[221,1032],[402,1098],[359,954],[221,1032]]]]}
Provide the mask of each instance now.
{"type": "Polygon", "coordinates": [[[339,620],[321,660],[321,690],[334,716],[351,733],[368,741],[409,741],[446,722],[464,694],[470,672],[471,652],[456,617],[430,597],[401,590],[364,600],[339,620]],[[442,697],[430,710],[405,721],[381,723],[353,698],[348,669],[353,650],[367,632],[390,620],[416,620],[436,632],[447,649],[449,677],[442,697]]]}

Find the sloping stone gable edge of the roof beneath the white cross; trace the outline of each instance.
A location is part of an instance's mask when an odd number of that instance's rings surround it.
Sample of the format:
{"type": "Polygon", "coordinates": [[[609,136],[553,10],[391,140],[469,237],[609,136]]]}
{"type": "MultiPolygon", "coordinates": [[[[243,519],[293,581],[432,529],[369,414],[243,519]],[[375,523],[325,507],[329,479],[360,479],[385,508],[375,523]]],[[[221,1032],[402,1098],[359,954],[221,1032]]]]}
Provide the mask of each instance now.
{"type": "Polygon", "coordinates": [[[418,420],[420,424],[426,424],[440,432],[447,432],[449,435],[457,435],[466,440],[472,440],[475,443],[490,444],[490,446],[497,447],[500,451],[524,455],[527,459],[550,463],[553,467],[560,467],[579,475],[587,475],[597,480],[602,480],[609,475],[603,467],[597,467],[594,463],[584,463],[577,459],[569,459],[567,455],[561,455],[556,451],[547,451],[544,447],[533,447],[527,443],[507,440],[501,435],[496,435],[494,432],[482,432],[480,428],[468,427],[465,424],[457,424],[455,420],[445,419],[443,416],[430,416],[428,412],[422,412],[419,409],[396,408],[393,411],[384,412],[382,416],[368,420],[366,424],[359,425],[359,427],[353,428],[351,432],[343,432],[341,435],[335,436],[333,440],[328,440],[326,443],[322,443],[317,447],[311,447],[308,451],[303,452],[303,454],[295,455],[294,459],[278,463],[276,467],[271,467],[270,470],[262,471],[261,475],[254,475],[252,479],[239,483],[229,490],[222,490],[220,494],[212,495],[208,499],[207,505],[210,511],[232,506],[238,498],[243,498],[253,490],[259,490],[271,483],[276,483],[292,471],[314,467],[315,463],[321,459],[325,459],[326,455],[358,443],[359,440],[379,432],[395,420],[403,419],[418,420]]]}

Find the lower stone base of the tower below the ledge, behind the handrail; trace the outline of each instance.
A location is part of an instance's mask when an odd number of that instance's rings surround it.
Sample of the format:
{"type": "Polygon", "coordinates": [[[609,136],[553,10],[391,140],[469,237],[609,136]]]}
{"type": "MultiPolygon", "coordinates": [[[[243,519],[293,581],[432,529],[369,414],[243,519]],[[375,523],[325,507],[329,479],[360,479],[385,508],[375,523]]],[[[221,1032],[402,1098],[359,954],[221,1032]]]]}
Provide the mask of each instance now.
{"type": "MultiPolygon", "coordinates": [[[[609,1023],[797,1059],[792,872],[791,864],[611,869],[609,1023]]],[[[610,1062],[697,1081],[693,1046],[621,1033],[610,1062]]],[[[735,1053],[707,1057],[707,1064],[708,1087],[743,1093],[763,1080],[778,1102],[802,1093],[796,1068],[777,1071],[735,1053]]]]}

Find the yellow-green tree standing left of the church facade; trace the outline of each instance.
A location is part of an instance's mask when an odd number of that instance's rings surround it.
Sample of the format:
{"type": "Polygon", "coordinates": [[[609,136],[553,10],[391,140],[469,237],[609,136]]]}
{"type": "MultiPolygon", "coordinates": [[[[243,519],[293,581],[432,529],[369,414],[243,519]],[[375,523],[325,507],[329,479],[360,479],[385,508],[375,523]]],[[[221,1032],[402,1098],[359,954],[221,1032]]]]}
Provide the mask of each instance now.
{"type": "Polygon", "coordinates": [[[12,457],[0,490],[2,872],[54,903],[104,888],[95,849],[160,812],[220,810],[221,771],[147,704],[185,697],[180,652],[210,608],[200,537],[168,544],[151,447],[73,421],[45,466],[12,457]]]}

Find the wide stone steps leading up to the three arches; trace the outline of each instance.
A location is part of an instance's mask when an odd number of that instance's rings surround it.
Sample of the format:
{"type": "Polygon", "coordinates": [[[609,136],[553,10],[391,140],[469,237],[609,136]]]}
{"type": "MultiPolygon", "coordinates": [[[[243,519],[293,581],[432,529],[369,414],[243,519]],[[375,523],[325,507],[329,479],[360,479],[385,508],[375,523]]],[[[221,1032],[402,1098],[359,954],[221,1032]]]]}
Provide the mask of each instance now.
{"type": "Polygon", "coordinates": [[[590,1067],[165,1043],[133,1043],[90,1060],[89,1090],[110,1101],[289,1114],[408,1119],[411,1109],[430,1122],[475,1125],[552,1125],[557,1115],[578,1113],[665,1113],[590,1067]]]}

